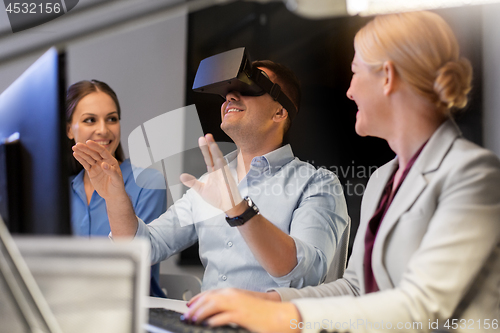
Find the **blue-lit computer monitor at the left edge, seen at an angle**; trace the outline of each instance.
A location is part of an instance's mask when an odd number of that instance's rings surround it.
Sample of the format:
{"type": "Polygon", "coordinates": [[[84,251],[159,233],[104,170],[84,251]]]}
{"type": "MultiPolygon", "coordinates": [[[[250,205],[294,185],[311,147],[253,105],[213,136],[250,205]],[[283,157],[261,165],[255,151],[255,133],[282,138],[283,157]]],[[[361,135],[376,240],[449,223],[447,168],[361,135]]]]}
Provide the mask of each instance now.
{"type": "Polygon", "coordinates": [[[0,215],[13,234],[71,234],[65,86],[51,48],[0,95],[0,215]]]}

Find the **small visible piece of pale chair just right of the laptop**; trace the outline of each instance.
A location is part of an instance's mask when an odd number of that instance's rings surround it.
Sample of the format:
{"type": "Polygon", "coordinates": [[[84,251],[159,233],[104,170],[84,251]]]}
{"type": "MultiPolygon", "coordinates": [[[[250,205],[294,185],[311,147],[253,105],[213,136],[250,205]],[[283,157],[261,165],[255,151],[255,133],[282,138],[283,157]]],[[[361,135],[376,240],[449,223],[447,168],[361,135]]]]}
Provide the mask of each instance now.
{"type": "Polygon", "coordinates": [[[194,275],[160,274],[159,283],[167,298],[189,301],[201,292],[201,280],[194,275]]]}

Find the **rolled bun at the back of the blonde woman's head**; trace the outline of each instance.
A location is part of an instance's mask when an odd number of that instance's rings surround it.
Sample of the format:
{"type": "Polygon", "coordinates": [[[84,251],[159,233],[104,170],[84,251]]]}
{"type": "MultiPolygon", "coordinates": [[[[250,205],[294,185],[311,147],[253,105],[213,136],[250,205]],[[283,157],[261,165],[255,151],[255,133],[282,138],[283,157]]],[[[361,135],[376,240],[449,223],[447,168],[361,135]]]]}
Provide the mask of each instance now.
{"type": "Polygon", "coordinates": [[[434,91],[448,109],[461,109],[467,105],[471,90],[472,66],[466,58],[445,63],[437,72],[434,91]]]}

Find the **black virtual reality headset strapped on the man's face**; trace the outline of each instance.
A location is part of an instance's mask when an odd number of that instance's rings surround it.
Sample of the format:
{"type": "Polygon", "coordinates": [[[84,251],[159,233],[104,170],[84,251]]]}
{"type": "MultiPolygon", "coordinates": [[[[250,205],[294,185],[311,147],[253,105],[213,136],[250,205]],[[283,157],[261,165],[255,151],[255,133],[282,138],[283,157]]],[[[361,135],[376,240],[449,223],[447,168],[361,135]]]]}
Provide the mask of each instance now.
{"type": "Polygon", "coordinates": [[[297,115],[297,108],[281,91],[280,85],[273,83],[262,70],[252,67],[244,47],[203,59],[194,78],[193,90],[217,94],[224,99],[231,91],[245,96],[268,93],[288,111],[291,120],[297,115]]]}

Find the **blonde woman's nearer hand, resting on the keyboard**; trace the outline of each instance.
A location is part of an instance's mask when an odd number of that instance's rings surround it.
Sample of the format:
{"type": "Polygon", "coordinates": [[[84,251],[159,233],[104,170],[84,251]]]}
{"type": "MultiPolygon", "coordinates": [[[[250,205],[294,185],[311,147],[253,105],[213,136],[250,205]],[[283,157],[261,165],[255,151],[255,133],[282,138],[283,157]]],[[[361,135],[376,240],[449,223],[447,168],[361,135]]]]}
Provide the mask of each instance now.
{"type": "Polygon", "coordinates": [[[259,299],[247,291],[219,289],[201,293],[188,304],[186,320],[209,326],[236,324],[252,332],[296,332],[291,320],[300,321],[292,303],[259,299]]]}

